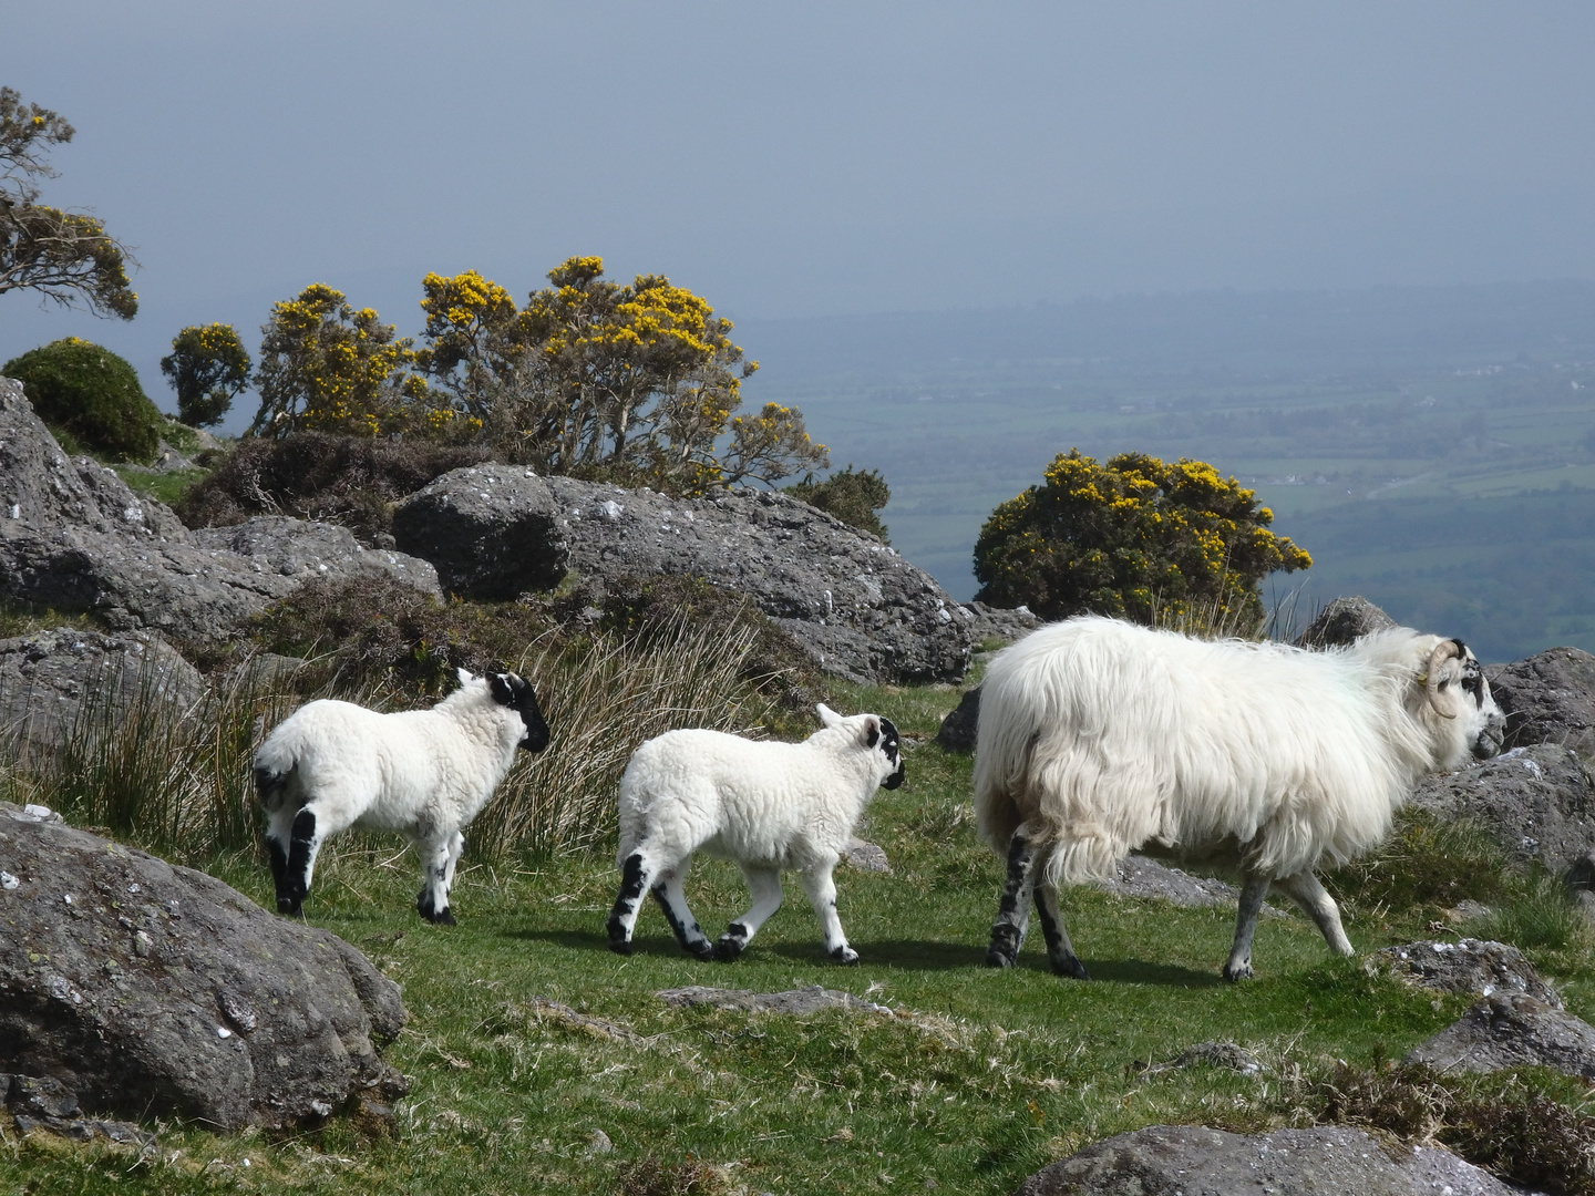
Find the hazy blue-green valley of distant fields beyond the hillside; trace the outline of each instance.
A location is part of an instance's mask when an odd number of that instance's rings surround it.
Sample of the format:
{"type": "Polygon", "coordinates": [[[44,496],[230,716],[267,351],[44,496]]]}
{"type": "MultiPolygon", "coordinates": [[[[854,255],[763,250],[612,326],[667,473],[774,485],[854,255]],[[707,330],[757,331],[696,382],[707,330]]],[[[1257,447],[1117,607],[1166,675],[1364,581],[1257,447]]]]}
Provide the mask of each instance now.
{"type": "Polygon", "coordinates": [[[1070,447],[1214,462],[1361,592],[1491,659],[1595,651],[1595,284],[1150,297],[738,329],[892,485],[892,542],[955,596],[998,502],[1070,447]],[[761,343],[762,341],[762,343],[761,343]]]}

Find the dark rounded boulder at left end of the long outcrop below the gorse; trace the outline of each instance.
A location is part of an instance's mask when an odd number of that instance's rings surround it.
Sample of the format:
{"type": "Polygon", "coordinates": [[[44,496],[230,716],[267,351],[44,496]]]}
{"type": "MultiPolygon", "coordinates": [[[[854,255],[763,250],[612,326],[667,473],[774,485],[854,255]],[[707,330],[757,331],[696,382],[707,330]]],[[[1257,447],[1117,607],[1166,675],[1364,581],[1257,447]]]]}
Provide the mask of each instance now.
{"type": "Polygon", "coordinates": [[[549,485],[520,466],[469,466],[437,478],[394,510],[400,552],[437,566],[443,588],[507,601],[565,577],[569,544],[549,485]]]}

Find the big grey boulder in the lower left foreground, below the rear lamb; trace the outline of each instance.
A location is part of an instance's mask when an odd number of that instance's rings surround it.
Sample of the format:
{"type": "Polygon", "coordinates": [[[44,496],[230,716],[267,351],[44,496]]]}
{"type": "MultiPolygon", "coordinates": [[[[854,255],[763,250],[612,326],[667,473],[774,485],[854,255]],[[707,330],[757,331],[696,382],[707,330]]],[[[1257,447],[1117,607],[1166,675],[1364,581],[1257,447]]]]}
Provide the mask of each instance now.
{"type": "MultiPolygon", "coordinates": [[[[219,1129],[388,1111],[399,987],[203,872],[0,802],[0,1072],[219,1129]]],[[[391,1116],[391,1113],[389,1113],[391,1116]]]]}

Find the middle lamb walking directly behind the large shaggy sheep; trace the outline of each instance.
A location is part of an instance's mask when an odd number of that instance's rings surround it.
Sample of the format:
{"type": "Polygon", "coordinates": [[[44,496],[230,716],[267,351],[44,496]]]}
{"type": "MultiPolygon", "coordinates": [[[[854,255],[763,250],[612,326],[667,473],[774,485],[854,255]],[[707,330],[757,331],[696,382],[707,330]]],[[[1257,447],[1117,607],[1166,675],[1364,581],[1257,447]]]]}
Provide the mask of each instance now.
{"type": "Polygon", "coordinates": [[[718,730],[671,730],[633,753],[620,777],[620,895],[609,949],[632,954],[632,928],[652,893],[676,941],[700,960],[734,960],[782,906],[782,869],[796,869],[837,963],[858,963],[836,915],[831,871],[876,786],[903,783],[898,730],[879,714],[823,724],[802,743],[753,742],[718,730]],[[753,907],[710,942],[683,882],[699,848],[729,856],[753,907]]]}

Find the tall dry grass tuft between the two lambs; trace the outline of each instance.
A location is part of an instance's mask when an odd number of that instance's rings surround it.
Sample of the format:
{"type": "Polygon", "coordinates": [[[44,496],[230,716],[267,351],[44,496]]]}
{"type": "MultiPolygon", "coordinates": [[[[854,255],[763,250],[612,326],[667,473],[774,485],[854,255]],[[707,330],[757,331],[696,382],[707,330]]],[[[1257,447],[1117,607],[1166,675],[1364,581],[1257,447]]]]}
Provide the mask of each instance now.
{"type": "Polygon", "coordinates": [[[764,721],[770,700],[742,676],[754,649],[750,627],[681,619],[625,639],[528,649],[518,671],[536,683],[552,737],[477,815],[472,852],[568,853],[609,839],[620,773],[643,740],[676,727],[746,734],[764,721]]]}

